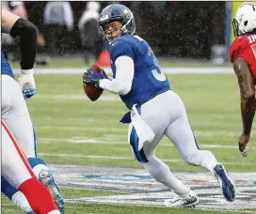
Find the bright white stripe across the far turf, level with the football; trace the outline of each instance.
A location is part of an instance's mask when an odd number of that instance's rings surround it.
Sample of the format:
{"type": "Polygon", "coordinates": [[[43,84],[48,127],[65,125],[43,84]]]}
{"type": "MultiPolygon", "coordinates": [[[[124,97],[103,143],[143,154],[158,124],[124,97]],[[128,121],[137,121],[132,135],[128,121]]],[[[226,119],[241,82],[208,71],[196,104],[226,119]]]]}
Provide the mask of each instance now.
{"type": "MultiPolygon", "coordinates": [[[[12,69],[15,74],[20,74],[20,69],[12,69]]],[[[83,74],[86,68],[76,68],[76,69],[34,69],[35,74],[83,74]]],[[[104,69],[106,73],[111,73],[111,69],[106,68],[104,69]]],[[[182,68],[162,68],[165,73],[168,74],[179,74],[179,73],[233,73],[232,66],[231,68],[226,67],[217,67],[217,68],[189,68],[189,67],[182,67],[182,68]]]]}

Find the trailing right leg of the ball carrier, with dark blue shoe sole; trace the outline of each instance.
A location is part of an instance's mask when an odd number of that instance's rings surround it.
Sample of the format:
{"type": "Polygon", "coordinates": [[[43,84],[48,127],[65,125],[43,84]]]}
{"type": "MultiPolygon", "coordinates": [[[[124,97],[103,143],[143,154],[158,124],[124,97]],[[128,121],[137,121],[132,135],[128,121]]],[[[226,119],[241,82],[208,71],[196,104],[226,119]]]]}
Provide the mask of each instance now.
{"type": "Polygon", "coordinates": [[[172,101],[179,110],[179,115],[171,121],[165,134],[178,148],[182,158],[191,165],[202,166],[212,172],[218,179],[224,197],[233,201],[235,197],[232,179],[228,176],[223,164],[216,160],[212,152],[200,150],[193,130],[187,119],[182,99],[172,92],[172,101]]]}

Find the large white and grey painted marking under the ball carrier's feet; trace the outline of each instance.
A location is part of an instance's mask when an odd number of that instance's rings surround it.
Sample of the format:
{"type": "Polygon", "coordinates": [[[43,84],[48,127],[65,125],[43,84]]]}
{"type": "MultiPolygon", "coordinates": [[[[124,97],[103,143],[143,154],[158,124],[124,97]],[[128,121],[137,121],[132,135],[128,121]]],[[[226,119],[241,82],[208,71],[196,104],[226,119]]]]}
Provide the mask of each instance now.
{"type": "MultiPolygon", "coordinates": [[[[66,199],[66,202],[70,203],[164,206],[163,202],[166,199],[175,196],[167,187],[149,177],[147,171],[142,168],[50,164],[50,170],[63,188],[121,192],[115,195],[93,197],[85,195],[75,199],[66,199]]],[[[223,198],[216,177],[210,172],[173,171],[173,173],[198,194],[200,204],[197,208],[199,209],[240,210],[241,212],[246,208],[256,208],[256,185],[254,183],[256,173],[230,172],[236,187],[236,200],[232,203],[223,198]]]]}

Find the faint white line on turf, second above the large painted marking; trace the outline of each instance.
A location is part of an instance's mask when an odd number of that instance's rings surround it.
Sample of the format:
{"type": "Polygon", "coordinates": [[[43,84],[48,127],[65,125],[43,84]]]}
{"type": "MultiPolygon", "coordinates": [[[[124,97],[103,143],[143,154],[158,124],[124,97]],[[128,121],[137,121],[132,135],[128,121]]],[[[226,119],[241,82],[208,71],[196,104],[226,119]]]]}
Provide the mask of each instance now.
{"type": "MultiPolygon", "coordinates": [[[[96,139],[62,139],[62,138],[38,138],[41,143],[44,142],[66,142],[71,144],[97,144],[97,145],[128,145],[126,138],[120,141],[113,141],[113,138],[109,138],[108,141],[96,140],[96,139]]],[[[169,144],[159,144],[161,146],[174,146],[171,142],[169,144]]],[[[201,145],[202,148],[233,148],[238,149],[237,145],[201,145]]],[[[250,148],[256,149],[256,146],[251,146],[250,148]]]]}

